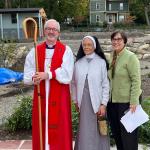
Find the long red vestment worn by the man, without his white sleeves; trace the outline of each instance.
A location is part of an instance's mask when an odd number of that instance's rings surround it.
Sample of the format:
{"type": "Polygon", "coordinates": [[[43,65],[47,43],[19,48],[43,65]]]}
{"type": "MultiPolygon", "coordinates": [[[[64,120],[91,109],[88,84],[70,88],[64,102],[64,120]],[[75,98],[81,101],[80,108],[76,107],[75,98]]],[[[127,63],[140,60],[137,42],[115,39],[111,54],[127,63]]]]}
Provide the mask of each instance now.
{"type": "MultiPolygon", "coordinates": [[[[52,79],[48,99],[48,142],[50,150],[72,150],[71,101],[68,84],[59,83],[55,70],[61,67],[65,45],[57,42],[51,62],[52,79]]],[[[46,43],[37,46],[39,72],[44,72],[46,43]]],[[[46,93],[45,81],[40,83],[42,139],[45,150],[46,93]]],[[[32,149],[40,150],[37,87],[34,87],[32,106],[32,149]]]]}

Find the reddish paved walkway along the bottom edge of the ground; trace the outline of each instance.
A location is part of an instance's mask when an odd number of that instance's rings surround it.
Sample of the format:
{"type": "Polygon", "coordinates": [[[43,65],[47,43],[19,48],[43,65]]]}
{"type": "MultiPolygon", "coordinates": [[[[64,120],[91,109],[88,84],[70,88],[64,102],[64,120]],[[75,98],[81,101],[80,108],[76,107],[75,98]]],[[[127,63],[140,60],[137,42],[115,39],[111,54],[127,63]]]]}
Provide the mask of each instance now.
{"type": "MultiPolygon", "coordinates": [[[[143,149],[150,150],[150,147],[139,145],[138,150],[143,150],[143,149]]],[[[0,141],[0,150],[32,150],[32,141],[31,140],[0,141]]],[[[116,150],[116,147],[111,147],[110,150],[116,150]]]]}

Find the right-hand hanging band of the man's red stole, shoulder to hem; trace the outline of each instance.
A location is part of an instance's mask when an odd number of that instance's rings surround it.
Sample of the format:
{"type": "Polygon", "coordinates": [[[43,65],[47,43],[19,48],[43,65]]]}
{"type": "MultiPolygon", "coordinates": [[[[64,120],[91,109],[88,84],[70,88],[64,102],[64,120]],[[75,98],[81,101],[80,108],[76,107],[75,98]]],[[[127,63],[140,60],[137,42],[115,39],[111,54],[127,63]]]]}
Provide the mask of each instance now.
{"type": "MultiPolygon", "coordinates": [[[[56,43],[54,55],[51,62],[51,72],[52,76],[55,77],[54,73],[58,67],[62,64],[62,58],[65,52],[65,46],[60,42],[56,43]]],[[[60,116],[60,98],[62,84],[60,84],[55,78],[50,80],[50,97],[49,97],[49,111],[48,111],[48,134],[49,143],[51,146],[57,145],[59,133],[59,116],[60,116]],[[57,92],[56,92],[57,91],[57,92]]]]}

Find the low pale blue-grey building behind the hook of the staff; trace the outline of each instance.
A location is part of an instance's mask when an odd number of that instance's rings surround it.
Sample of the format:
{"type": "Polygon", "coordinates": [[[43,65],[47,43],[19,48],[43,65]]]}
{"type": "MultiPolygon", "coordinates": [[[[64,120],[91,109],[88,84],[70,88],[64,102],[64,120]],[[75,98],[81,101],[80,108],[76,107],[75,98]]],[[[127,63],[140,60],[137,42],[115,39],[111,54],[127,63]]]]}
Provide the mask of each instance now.
{"type": "MultiPolygon", "coordinates": [[[[9,8],[0,9],[0,39],[24,39],[22,22],[25,18],[32,17],[38,25],[38,38],[43,37],[43,25],[46,14],[43,8],[9,8]]],[[[33,37],[34,24],[27,23],[29,38],[33,37]]]]}

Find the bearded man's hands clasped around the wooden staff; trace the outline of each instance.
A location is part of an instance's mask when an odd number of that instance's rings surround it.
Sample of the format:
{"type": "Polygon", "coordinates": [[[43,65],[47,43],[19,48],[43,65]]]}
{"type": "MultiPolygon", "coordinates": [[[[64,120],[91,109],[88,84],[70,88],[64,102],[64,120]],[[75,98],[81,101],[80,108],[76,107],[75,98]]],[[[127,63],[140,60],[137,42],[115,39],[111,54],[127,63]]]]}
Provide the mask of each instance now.
{"type": "Polygon", "coordinates": [[[48,79],[48,73],[46,72],[36,72],[33,76],[33,82],[35,85],[39,84],[42,80],[48,79]]]}

